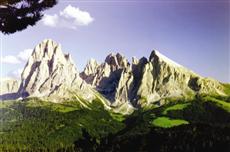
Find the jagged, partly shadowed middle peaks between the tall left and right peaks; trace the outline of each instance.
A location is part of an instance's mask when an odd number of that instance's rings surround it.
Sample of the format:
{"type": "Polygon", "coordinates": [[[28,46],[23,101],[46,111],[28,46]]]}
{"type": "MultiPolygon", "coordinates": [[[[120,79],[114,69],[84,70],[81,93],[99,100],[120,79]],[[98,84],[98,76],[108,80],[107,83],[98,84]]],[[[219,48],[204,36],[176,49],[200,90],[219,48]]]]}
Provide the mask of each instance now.
{"type": "Polygon", "coordinates": [[[90,60],[81,73],[81,77],[111,102],[115,101],[116,88],[121,78],[122,71],[129,66],[128,60],[121,54],[109,54],[105,62],[98,64],[90,60]],[[94,70],[89,70],[94,69],[94,70]]]}

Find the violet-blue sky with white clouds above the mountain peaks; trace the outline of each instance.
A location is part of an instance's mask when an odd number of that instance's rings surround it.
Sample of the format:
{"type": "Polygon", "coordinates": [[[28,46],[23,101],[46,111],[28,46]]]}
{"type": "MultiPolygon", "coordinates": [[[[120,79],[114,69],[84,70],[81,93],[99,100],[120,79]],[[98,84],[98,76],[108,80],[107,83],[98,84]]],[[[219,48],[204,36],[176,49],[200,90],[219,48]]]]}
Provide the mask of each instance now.
{"type": "Polygon", "coordinates": [[[227,0],[60,0],[44,12],[48,23],[43,18],[22,32],[2,35],[3,59],[18,60],[2,63],[2,76],[15,76],[26,63],[23,51],[51,38],[72,55],[79,71],[88,59],[102,62],[110,52],[130,60],[157,49],[202,76],[230,82],[229,11],[227,0]]]}

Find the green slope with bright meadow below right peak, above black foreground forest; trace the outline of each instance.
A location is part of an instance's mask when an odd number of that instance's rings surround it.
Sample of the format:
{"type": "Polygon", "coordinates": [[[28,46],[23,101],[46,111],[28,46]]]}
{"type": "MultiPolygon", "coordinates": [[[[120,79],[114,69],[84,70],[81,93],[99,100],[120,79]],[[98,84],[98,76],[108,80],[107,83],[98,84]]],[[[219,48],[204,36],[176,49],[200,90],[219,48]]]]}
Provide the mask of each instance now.
{"type": "MultiPolygon", "coordinates": [[[[206,96],[178,102],[173,100],[162,107],[136,111],[125,120],[126,131],[122,136],[143,134],[155,127],[171,128],[178,125],[207,124],[230,127],[229,109],[208,101],[207,98],[214,97],[206,96]]],[[[222,102],[228,104],[226,101],[222,102]]]]}

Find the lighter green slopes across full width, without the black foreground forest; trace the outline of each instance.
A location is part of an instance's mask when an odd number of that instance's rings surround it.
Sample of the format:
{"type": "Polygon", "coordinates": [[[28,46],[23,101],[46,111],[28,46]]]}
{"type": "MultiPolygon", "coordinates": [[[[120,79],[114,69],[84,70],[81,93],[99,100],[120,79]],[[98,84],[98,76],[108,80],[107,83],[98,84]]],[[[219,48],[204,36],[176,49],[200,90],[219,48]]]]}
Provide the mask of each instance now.
{"type": "MultiPolygon", "coordinates": [[[[84,139],[82,130],[86,130],[90,137],[96,139],[94,142],[99,144],[100,139],[107,138],[109,134],[114,138],[119,137],[120,142],[123,138],[132,139],[136,135],[149,134],[159,127],[166,128],[167,132],[178,125],[201,123],[217,127],[230,126],[228,97],[201,96],[192,101],[173,100],[159,108],[135,111],[127,118],[104,110],[98,99],[92,104],[83,100],[81,102],[87,108],[79,105],[76,99],[59,104],[38,99],[0,104],[0,149],[70,148],[76,146],[74,142],[84,139]]],[[[165,131],[160,130],[159,133],[165,131]]],[[[94,142],[93,145],[96,144],[94,142]]]]}

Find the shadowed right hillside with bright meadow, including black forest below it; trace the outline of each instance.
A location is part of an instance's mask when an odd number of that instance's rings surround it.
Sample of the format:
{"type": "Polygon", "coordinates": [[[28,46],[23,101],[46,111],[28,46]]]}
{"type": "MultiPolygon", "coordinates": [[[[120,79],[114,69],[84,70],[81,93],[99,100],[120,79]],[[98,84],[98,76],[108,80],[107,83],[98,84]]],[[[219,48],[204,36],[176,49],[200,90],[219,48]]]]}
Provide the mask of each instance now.
{"type": "Polygon", "coordinates": [[[224,105],[229,103],[228,97],[200,96],[136,111],[126,119],[124,129],[104,139],[99,151],[227,152],[230,150],[229,109],[207,98],[221,100],[224,105]]]}

